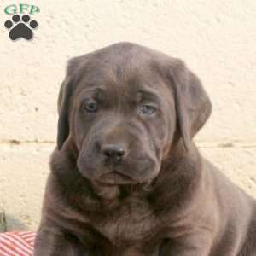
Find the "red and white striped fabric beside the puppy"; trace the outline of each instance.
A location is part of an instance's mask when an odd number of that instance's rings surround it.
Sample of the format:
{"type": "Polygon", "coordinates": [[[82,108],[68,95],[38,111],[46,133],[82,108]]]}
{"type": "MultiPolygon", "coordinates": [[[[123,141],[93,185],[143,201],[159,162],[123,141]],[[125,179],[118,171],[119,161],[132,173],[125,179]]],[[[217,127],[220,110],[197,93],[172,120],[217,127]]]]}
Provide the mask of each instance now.
{"type": "Polygon", "coordinates": [[[35,236],[33,232],[0,233],[0,256],[32,256],[35,236]]]}

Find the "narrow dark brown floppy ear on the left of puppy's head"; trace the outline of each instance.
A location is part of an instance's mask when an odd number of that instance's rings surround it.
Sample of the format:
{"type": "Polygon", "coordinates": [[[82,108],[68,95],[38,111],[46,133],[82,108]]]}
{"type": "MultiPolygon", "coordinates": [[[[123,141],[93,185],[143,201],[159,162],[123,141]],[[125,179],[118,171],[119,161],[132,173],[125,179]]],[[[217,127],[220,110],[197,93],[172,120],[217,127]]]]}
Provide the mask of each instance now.
{"type": "Polygon", "coordinates": [[[72,96],[73,86],[69,76],[62,82],[61,90],[58,97],[58,131],[57,131],[57,148],[60,150],[69,135],[68,125],[68,108],[70,97],[72,96]]]}

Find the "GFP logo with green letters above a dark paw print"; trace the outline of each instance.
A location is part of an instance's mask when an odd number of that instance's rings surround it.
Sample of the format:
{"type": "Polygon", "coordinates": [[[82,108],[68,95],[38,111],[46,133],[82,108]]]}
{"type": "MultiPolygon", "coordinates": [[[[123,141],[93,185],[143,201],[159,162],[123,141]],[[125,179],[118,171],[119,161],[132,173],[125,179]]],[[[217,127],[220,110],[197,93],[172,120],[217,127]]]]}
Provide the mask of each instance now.
{"type": "Polygon", "coordinates": [[[30,15],[40,11],[38,6],[29,4],[11,4],[4,9],[6,15],[12,15],[11,20],[6,20],[4,26],[9,29],[9,38],[15,41],[18,38],[30,40],[33,30],[38,27],[38,21],[32,20],[30,15]]]}

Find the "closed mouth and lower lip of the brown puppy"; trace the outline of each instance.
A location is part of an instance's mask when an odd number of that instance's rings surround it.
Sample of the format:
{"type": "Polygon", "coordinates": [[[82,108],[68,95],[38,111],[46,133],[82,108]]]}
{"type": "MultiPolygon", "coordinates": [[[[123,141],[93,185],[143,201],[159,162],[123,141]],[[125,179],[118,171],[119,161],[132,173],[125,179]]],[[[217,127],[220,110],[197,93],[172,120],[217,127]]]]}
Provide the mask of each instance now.
{"type": "Polygon", "coordinates": [[[123,173],[113,171],[102,174],[97,182],[107,184],[107,185],[120,185],[120,184],[134,184],[137,181],[123,173]]]}

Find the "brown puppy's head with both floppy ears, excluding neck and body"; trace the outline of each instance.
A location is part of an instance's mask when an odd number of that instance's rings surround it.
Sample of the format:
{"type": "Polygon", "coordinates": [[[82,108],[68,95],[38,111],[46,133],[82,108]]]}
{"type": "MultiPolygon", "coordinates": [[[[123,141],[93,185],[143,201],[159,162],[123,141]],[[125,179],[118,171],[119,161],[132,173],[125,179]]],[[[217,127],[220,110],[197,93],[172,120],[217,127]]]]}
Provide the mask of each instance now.
{"type": "Polygon", "coordinates": [[[69,61],[58,108],[58,149],[72,142],[79,172],[108,185],[150,183],[173,143],[189,150],[211,113],[182,61],[130,43],[69,61]]]}

